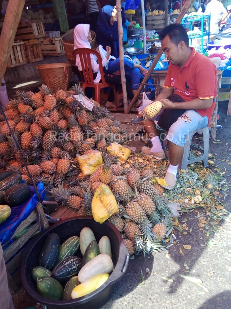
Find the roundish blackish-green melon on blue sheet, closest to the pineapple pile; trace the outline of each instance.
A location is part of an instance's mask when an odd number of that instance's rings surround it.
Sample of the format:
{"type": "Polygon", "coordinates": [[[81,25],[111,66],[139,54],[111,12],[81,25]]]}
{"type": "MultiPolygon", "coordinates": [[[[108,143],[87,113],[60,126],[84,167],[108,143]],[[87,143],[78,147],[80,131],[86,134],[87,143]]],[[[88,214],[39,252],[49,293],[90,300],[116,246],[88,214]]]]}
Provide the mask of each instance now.
{"type": "Polygon", "coordinates": [[[5,193],[5,201],[10,206],[18,206],[30,197],[28,184],[16,184],[5,193]]]}

